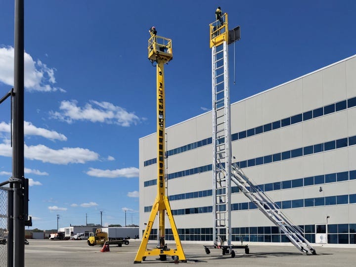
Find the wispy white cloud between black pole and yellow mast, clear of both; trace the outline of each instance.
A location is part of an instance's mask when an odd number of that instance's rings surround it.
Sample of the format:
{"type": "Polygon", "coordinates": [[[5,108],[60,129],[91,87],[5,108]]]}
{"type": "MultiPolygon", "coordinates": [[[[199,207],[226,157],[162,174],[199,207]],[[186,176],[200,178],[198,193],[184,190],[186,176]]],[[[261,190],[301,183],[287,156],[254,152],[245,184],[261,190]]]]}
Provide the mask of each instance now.
{"type": "Polygon", "coordinates": [[[60,103],[60,112],[51,111],[50,115],[54,119],[69,124],[79,120],[129,127],[132,124],[136,125],[140,121],[134,113],[129,113],[124,108],[115,106],[112,103],[94,100],[90,100],[89,102],[84,107],[79,107],[76,100],[65,100],[60,103]]]}

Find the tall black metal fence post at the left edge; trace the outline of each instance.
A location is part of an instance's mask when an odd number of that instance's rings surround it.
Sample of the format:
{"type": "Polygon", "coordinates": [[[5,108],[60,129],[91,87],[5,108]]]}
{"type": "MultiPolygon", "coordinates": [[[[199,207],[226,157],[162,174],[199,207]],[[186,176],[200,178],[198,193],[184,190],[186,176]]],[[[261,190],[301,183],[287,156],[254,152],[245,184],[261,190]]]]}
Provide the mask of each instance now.
{"type": "Polygon", "coordinates": [[[24,218],[24,0],[15,0],[12,178],[13,266],[25,266],[24,218]]]}

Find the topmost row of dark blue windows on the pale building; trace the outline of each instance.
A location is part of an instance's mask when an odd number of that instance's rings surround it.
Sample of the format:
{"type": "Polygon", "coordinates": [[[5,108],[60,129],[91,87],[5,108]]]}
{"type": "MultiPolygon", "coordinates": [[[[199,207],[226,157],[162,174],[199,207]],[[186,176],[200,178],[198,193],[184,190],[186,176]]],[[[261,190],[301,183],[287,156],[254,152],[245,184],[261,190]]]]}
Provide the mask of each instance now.
{"type": "MultiPolygon", "coordinates": [[[[336,102],[336,103],[333,103],[330,105],[326,105],[326,106],[323,106],[320,108],[316,108],[316,109],[313,109],[313,110],[310,110],[307,112],[303,112],[303,113],[300,113],[300,114],[297,114],[297,115],[294,115],[294,116],[291,116],[288,118],[284,118],[279,121],[275,121],[272,123],[268,123],[265,125],[255,127],[255,128],[251,128],[251,129],[239,132],[239,133],[231,134],[231,141],[243,139],[243,138],[250,137],[250,136],[253,136],[256,134],[266,133],[271,130],[286,127],[286,126],[296,124],[296,123],[299,123],[302,121],[307,121],[312,118],[317,118],[317,117],[320,117],[323,115],[341,111],[346,108],[351,108],[354,106],[356,106],[356,97],[349,98],[349,99],[346,99],[346,100],[343,100],[340,102],[336,102]]],[[[223,138],[222,138],[222,140],[223,140],[223,138]]],[[[203,140],[200,140],[200,141],[197,141],[194,143],[190,143],[187,145],[183,145],[183,146],[168,150],[166,152],[166,155],[167,156],[176,155],[176,154],[179,154],[179,153],[191,150],[191,149],[195,149],[195,148],[198,148],[198,147],[201,147],[204,145],[211,144],[211,143],[212,143],[212,137],[205,138],[203,140]]],[[[314,153],[316,153],[316,152],[314,152],[314,153]]],[[[310,153],[310,154],[312,154],[312,153],[310,153]]],[[[148,166],[148,165],[155,164],[155,163],[157,163],[156,158],[144,161],[143,166],[148,166]]]]}

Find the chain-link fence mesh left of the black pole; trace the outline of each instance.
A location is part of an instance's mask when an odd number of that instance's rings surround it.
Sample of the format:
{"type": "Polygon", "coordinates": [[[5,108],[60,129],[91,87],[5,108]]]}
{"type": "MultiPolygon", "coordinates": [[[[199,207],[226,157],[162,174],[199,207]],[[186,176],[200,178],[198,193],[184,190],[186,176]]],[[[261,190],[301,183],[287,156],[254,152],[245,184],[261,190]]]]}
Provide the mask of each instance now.
{"type": "Polygon", "coordinates": [[[0,266],[7,264],[7,190],[0,187],[0,266]]]}

